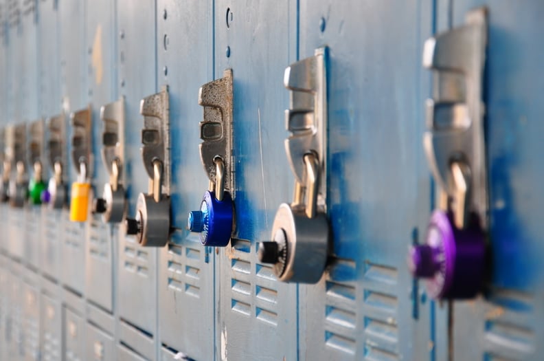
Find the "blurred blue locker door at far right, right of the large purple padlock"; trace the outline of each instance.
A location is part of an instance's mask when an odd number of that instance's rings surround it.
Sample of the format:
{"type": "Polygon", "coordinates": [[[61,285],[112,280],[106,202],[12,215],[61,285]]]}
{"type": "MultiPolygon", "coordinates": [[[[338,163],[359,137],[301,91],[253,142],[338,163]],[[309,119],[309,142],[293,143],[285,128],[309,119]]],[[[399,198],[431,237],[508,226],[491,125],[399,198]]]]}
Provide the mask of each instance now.
{"type": "Polygon", "coordinates": [[[490,287],[453,305],[453,360],[540,360],[544,345],[541,121],[544,50],[540,1],[452,1],[453,27],[488,7],[486,103],[490,287]]]}

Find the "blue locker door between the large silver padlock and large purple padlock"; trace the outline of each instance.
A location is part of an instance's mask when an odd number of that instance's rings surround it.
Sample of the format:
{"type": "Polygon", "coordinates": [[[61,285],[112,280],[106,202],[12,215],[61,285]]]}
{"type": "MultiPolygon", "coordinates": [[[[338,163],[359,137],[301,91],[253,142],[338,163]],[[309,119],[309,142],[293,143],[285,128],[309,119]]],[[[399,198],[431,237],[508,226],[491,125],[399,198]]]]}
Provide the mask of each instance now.
{"type": "Polygon", "coordinates": [[[406,262],[431,206],[421,54],[433,11],[431,1],[300,3],[299,58],[330,49],[334,239],[328,272],[299,287],[302,359],[434,360],[439,352],[429,347],[429,301],[406,262]]]}

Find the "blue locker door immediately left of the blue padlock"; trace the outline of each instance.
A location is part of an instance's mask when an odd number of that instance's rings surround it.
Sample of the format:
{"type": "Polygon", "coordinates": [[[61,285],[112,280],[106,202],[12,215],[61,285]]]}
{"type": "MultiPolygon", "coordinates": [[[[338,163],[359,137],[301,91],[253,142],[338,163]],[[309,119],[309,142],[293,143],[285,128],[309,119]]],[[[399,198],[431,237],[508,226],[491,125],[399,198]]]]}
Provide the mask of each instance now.
{"type": "Polygon", "coordinates": [[[187,211],[207,188],[198,155],[198,89],[212,80],[212,14],[212,1],[157,1],[157,80],[170,91],[175,228],[159,253],[159,335],[163,346],[196,360],[214,358],[214,254],[185,230],[187,211]]]}

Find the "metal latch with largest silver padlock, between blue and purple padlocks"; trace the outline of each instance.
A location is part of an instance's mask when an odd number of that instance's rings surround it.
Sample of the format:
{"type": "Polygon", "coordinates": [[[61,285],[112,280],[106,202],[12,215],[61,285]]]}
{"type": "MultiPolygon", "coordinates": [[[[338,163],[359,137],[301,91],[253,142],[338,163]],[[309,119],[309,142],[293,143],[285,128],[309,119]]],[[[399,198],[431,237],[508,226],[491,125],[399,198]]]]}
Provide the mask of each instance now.
{"type": "Polygon", "coordinates": [[[292,204],[281,204],[273,228],[273,241],[259,245],[263,263],[273,263],[280,281],[316,283],[328,256],[330,229],[326,215],[327,193],[327,58],[328,48],[285,69],[285,87],[291,90],[286,110],[285,141],[295,175],[292,204]]]}

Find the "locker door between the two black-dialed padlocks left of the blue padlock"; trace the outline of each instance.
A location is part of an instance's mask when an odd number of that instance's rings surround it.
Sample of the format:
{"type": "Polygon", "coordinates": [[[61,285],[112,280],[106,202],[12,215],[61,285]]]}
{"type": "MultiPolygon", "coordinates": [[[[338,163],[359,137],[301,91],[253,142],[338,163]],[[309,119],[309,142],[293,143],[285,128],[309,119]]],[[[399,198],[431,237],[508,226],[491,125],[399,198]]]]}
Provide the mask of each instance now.
{"type": "MultiPolygon", "coordinates": [[[[133,217],[138,193],[148,188],[148,177],[141,160],[140,100],[157,90],[155,60],[155,1],[122,0],[117,3],[119,40],[117,83],[125,99],[125,171],[128,216],[133,217]],[[145,11],[141,11],[146,9],[145,11]]],[[[157,250],[143,248],[135,237],[120,228],[118,289],[120,317],[157,335],[157,250]],[[134,297],[134,290],[139,296],[134,297]]]]}

